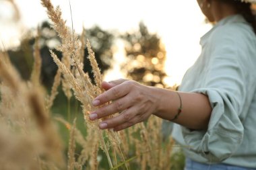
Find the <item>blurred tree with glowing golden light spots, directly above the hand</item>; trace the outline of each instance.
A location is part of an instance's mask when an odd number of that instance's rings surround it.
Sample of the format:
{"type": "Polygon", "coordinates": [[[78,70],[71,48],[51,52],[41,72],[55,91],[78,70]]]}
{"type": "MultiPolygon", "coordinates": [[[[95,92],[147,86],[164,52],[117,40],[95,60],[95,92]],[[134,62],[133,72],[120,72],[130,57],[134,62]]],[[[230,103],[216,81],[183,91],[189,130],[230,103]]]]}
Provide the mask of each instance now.
{"type": "Polygon", "coordinates": [[[137,32],[127,32],[121,38],[125,40],[127,53],[122,70],[127,77],[146,85],[164,87],[166,50],[158,35],[148,32],[145,24],[140,22],[137,32]]]}

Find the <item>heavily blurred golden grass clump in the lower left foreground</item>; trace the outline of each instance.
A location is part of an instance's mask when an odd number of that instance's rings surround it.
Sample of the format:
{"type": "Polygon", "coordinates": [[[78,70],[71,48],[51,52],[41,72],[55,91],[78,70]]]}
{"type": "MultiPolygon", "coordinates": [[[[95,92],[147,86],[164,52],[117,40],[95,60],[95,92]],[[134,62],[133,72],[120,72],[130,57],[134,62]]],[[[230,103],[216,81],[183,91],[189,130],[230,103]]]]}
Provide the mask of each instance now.
{"type": "Polygon", "coordinates": [[[44,107],[44,91],[20,79],[2,54],[0,67],[0,124],[9,136],[0,136],[8,143],[1,144],[0,153],[5,155],[1,169],[40,169],[42,164],[48,168],[65,167],[61,139],[44,107]]]}

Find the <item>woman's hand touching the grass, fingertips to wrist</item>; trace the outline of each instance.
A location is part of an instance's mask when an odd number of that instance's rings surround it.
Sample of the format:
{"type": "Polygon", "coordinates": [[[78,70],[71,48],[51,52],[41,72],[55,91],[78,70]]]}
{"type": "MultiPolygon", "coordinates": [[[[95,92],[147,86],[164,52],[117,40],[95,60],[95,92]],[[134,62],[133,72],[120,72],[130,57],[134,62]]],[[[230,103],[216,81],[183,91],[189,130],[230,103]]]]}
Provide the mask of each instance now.
{"type": "Polygon", "coordinates": [[[104,93],[94,99],[94,106],[104,105],[90,114],[91,120],[96,120],[119,112],[118,116],[109,118],[100,123],[101,129],[113,128],[123,130],[134,124],[142,122],[157,112],[158,93],[154,87],[141,85],[135,81],[119,79],[117,81],[103,82],[104,93]]]}

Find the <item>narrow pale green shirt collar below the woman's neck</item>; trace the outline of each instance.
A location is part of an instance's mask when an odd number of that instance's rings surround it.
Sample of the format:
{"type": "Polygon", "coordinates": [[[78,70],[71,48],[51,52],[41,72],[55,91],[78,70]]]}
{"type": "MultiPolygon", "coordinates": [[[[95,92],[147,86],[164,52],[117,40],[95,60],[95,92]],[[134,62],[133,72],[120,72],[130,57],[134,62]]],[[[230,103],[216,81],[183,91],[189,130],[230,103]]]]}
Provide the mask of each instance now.
{"type": "Polygon", "coordinates": [[[231,23],[247,23],[247,22],[245,21],[245,18],[241,14],[224,17],[209,32],[207,32],[201,37],[200,39],[201,46],[203,46],[203,44],[207,42],[208,37],[212,34],[212,32],[214,32],[214,30],[216,30],[216,28],[227,25],[227,24],[231,24],[231,23]]]}

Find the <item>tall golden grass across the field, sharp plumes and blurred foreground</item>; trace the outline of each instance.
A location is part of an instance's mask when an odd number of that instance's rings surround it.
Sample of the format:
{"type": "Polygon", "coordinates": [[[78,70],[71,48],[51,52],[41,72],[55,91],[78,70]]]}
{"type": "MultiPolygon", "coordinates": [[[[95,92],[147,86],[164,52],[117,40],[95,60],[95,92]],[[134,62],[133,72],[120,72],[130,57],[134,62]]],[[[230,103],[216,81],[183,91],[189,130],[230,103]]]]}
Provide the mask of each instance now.
{"type": "MultiPolygon", "coordinates": [[[[40,83],[40,32],[34,46],[30,81],[20,78],[7,54],[1,50],[0,169],[170,169],[174,142],[171,138],[163,140],[159,118],[152,116],[146,123],[121,132],[100,130],[98,124],[102,120],[92,122],[89,119],[90,112],[96,110],[92,100],[104,91],[100,86],[103,78],[94,51],[89,40],[79,39],[67,28],[59,7],[54,7],[49,0],[41,0],[41,3],[61,38],[62,43],[56,48],[63,58],[60,60],[51,51],[58,71],[51,93],[47,94],[40,83]],[[88,73],[84,73],[85,46],[94,83],[88,73]],[[51,114],[59,85],[62,85],[68,103],[73,95],[81,103],[86,136],[77,128],[75,116],[69,115],[65,120],[51,114]],[[62,122],[69,130],[67,153],[56,122],[62,122]],[[77,146],[82,148],[79,152],[75,149],[77,146]],[[100,150],[104,153],[101,160],[100,150]],[[105,159],[108,167],[101,165],[105,159]]],[[[73,110],[68,112],[74,115],[73,110]]]]}

